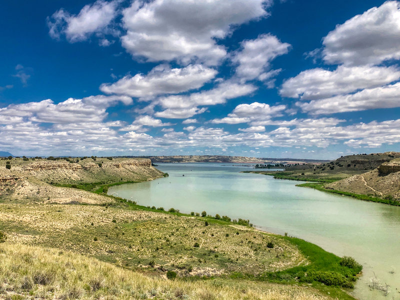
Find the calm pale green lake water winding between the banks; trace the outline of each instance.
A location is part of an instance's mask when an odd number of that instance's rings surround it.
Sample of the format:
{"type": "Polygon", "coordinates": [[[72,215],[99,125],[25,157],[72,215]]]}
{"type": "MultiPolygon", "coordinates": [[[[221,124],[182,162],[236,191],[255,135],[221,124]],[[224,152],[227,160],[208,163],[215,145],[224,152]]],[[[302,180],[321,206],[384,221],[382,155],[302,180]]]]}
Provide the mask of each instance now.
{"type": "Polygon", "coordinates": [[[250,219],[261,229],[287,232],[339,256],[353,256],[364,266],[354,296],[400,299],[400,207],[297,187],[298,181],[240,173],[251,168],[232,164],[165,163],[157,168],[169,177],[113,186],[109,193],[146,206],[250,219]],[[374,273],[390,285],[387,297],[369,290],[374,273]]]}

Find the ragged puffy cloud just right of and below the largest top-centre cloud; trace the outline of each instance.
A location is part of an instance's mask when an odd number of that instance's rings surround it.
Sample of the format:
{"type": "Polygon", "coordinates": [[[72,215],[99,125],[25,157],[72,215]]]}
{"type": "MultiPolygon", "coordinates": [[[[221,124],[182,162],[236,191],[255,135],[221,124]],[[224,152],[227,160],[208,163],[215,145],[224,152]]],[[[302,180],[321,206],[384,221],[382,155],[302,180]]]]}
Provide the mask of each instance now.
{"type": "Polygon", "coordinates": [[[236,75],[243,81],[257,78],[266,80],[278,71],[269,71],[270,62],[279,55],[286,54],[290,44],[282,43],[276,36],[261,34],[256,39],[244,40],[241,49],[232,56],[237,64],[236,75]]]}

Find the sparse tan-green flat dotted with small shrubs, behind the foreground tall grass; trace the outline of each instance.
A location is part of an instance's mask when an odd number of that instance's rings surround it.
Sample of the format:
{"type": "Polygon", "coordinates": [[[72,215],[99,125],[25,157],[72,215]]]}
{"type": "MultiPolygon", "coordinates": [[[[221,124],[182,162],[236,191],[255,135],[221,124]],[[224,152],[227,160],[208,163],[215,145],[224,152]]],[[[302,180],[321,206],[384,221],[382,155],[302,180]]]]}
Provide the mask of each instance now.
{"type": "Polygon", "coordinates": [[[0,219],[10,242],[72,250],[128,268],[154,271],[162,265],[180,275],[257,274],[305,263],[297,247],[277,235],[238,225],[205,226],[201,218],[153,211],[1,204],[0,219]],[[196,242],[200,247],[194,247],[196,242]],[[151,260],[154,268],[148,265],[151,260]]]}

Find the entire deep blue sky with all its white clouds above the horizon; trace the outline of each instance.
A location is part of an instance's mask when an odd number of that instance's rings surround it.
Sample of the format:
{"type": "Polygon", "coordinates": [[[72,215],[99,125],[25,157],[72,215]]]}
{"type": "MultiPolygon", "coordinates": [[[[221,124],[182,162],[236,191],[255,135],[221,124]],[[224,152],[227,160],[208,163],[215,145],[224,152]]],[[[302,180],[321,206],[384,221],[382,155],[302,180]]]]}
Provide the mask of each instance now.
{"type": "Polygon", "coordinates": [[[0,9],[0,150],[400,151],[400,2],[37,0],[0,9]]]}

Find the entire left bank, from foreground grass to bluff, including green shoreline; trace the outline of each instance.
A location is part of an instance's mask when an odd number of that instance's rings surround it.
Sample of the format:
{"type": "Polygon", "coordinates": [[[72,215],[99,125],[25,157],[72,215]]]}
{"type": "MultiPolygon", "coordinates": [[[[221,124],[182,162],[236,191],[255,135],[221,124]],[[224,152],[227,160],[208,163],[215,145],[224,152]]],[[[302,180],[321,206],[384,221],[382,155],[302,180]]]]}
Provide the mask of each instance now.
{"type": "Polygon", "coordinates": [[[352,286],[358,265],[244,220],[107,196],[110,185],[148,179],[152,167],[147,160],[135,175],[123,166],[136,167],[132,159],[112,161],[115,168],[91,171],[84,182],[80,174],[90,170],[83,166],[92,163],[86,159],[41,163],[34,171],[47,172],[42,180],[24,168],[26,160],[0,166],[0,298],[352,299],[342,288],[352,286]],[[74,180],[45,182],[66,172],[74,180]],[[127,172],[133,180],[120,181],[127,172]],[[167,280],[170,274],[176,279],[167,280]]]}

